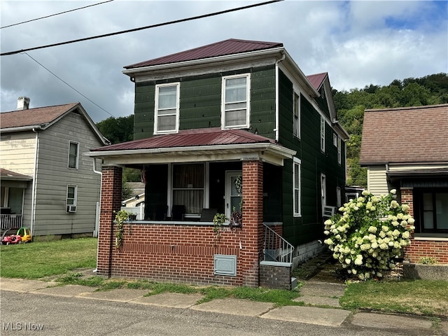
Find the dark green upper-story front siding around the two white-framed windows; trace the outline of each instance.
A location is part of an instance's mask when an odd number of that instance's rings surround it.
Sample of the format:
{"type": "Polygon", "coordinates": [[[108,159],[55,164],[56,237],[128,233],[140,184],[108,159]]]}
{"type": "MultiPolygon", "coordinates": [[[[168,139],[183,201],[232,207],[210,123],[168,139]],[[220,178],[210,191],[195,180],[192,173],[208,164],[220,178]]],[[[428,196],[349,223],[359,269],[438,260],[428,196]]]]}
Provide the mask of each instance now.
{"type": "MultiPolygon", "coordinates": [[[[251,73],[251,132],[275,137],[275,70],[274,66],[241,69],[204,76],[173,78],[180,82],[179,130],[221,127],[221,85],[223,76],[251,73]]],[[[134,139],[153,136],[155,85],[148,81],[135,88],[134,139]]]]}

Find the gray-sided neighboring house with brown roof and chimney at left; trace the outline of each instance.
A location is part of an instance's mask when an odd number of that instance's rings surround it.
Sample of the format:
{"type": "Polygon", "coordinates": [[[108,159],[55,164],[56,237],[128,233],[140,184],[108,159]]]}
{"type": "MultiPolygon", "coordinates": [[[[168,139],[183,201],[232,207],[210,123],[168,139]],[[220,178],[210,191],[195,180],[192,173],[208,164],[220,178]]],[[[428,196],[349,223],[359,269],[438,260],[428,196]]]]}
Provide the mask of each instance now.
{"type": "Polygon", "coordinates": [[[28,106],[20,97],[18,111],[0,114],[1,230],[92,235],[101,174],[83,153],[109,141],[80,103],[28,106]]]}

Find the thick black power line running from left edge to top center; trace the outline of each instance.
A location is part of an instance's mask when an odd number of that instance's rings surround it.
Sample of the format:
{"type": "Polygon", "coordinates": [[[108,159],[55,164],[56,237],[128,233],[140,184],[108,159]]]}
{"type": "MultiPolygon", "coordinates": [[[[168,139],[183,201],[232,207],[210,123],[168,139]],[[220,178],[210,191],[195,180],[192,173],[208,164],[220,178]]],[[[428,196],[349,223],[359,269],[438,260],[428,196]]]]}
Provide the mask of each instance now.
{"type": "Polygon", "coordinates": [[[40,47],[27,48],[27,49],[22,49],[22,50],[15,50],[15,51],[10,51],[10,52],[2,52],[0,54],[0,56],[15,55],[15,54],[19,54],[20,52],[26,52],[26,51],[29,51],[29,50],[50,48],[50,47],[55,47],[57,45],[64,45],[64,44],[69,44],[69,43],[76,43],[76,42],[81,42],[81,41],[93,40],[94,38],[103,38],[103,37],[114,36],[114,35],[119,35],[119,34],[126,34],[126,33],[130,33],[130,32],[133,32],[133,31],[139,31],[139,30],[150,29],[150,28],[155,28],[155,27],[162,27],[162,26],[167,26],[167,25],[174,25],[175,23],[187,22],[187,21],[192,21],[192,20],[197,20],[197,19],[202,19],[202,18],[209,18],[209,17],[215,16],[215,15],[231,13],[231,12],[235,12],[237,10],[243,10],[243,9],[248,9],[248,8],[253,8],[253,7],[258,7],[258,6],[264,6],[264,5],[267,5],[269,3],[274,3],[274,2],[279,2],[279,1],[283,1],[283,0],[265,1],[265,2],[261,2],[261,3],[255,3],[253,5],[242,6],[242,7],[232,8],[232,9],[228,9],[228,10],[220,10],[218,12],[204,14],[204,15],[197,15],[197,16],[193,16],[193,17],[190,17],[190,18],[174,20],[174,21],[169,21],[169,22],[164,22],[164,23],[158,23],[158,24],[150,25],[150,26],[146,26],[146,27],[139,27],[139,28],[127,29],[127,30],[123,30],[123,31],[116,31],[115,33],[109,33],[109,34],[103,34],[103,35],[97,35],[97,36],[91,36],[91,37],[85,37],[85,38],[78,38],[76,40],[71,40],[71,41],[53,43],[53,44],[48,44],[48,45],[41,45],[40,47]]]}

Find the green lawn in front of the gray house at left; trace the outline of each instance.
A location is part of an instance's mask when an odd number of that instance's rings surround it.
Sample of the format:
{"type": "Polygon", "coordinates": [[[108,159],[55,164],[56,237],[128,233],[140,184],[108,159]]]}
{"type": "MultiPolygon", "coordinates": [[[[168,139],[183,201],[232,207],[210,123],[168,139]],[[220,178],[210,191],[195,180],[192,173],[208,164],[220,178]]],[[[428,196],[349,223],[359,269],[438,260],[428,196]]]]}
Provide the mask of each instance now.
{"type": "Polygon", "coordinates": [[[39,279],[96,265],[96,238],[0,246],[0,276],[6,278],[39,279]]]}

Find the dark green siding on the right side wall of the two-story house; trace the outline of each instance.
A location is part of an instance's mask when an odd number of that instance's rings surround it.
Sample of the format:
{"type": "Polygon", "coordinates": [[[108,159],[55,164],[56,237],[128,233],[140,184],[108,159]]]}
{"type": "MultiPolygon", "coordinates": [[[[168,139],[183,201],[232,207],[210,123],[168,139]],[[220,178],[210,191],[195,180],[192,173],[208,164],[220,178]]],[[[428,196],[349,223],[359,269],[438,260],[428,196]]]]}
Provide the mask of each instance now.
{"type": "MultiPolygon", "coordinates": [[[[302,216],[293,216],[292,160],[283,167],[283,237],[297,246],[323,236],[321,215],[321,174],[326,177],[327,204],[336,205],[336,187],[344,191],[344,162],[337,164],[337,147],[332,144],[333,131],[325,124],[325,153],[321,152],[321,116],[311,103],[300,97],[300,139],[293,136],[293,84],[279,73],[279,142],[297,151],[301,164],[302,216]]],[[[321,99],[319,106],[324,101],[321,99]]],[[[324,109],[328,113],[328,109],[324,109]]],[[[344,153],[342,153],[344,158],[344,153]]]]}

